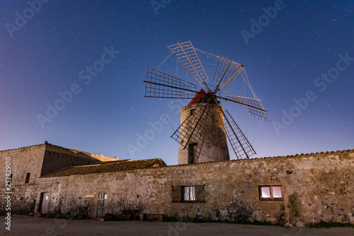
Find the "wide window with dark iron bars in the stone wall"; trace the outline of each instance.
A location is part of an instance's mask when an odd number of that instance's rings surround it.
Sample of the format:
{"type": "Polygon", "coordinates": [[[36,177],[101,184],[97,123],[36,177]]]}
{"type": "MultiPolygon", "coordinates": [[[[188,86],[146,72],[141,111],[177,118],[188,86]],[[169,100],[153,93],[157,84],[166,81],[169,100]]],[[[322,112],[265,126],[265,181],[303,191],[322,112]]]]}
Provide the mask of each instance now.
{"type": "Polygon", "coordinates": [[[204,185],[172,186],[172,202],[205,202],[204,185]]]}

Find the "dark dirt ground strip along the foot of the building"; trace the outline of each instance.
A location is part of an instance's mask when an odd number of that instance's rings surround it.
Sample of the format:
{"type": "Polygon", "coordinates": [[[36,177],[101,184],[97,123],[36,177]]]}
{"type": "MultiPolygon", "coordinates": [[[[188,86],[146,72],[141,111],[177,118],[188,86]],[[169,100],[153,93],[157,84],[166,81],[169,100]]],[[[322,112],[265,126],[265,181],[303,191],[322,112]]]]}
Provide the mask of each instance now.
{"type": "Polygon", "coordinates": [[[256,235],[256,236],[329,236],[354,235],[354,228],[285,228],[278,226],[237,225],[230,223],[181,223],[147,221],[62,220],[12,216],[11,231],[1,216],[0,235],[89,236],[89,235],[256,235]]]}

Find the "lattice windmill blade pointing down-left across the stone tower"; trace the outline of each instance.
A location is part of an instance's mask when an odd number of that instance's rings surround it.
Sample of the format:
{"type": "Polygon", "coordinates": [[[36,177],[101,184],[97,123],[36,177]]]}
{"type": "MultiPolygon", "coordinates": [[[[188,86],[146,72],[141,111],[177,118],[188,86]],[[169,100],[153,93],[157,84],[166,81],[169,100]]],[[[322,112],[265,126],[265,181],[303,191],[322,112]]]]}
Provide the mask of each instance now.
{"type": "Polygon", "coordinates": [[[183,149],[188,147],[188,143],[196,143],[195,157],[198,159],[202,144],[204,143],[205,135],[207,134],[207,127],[210,124],[210,112],[206,106],[198,105],[193,110],[187,119],[185,119],[181,126],[172,134],[171,138],[181,143],[183,149]]]}

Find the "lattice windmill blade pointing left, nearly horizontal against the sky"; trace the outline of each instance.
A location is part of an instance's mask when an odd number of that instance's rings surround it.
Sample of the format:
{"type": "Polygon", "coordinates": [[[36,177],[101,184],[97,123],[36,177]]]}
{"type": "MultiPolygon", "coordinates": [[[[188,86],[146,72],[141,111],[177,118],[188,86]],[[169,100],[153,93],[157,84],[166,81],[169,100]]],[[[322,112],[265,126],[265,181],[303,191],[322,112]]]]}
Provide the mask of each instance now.
{"type": "Polygon", "coordinates": [[[147,80],[144,81],[145,97],[149,98],[194,98],[197,85],[188,83],[166,73],[147,68],[147,80]]]}

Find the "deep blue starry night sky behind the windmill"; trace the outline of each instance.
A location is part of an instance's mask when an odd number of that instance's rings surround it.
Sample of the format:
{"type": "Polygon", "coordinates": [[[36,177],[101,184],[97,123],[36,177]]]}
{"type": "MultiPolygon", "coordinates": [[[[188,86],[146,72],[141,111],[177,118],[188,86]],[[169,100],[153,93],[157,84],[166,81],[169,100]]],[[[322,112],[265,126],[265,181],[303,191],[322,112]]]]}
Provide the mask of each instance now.
{"type": "MultiPolygon", "coordinates": [[[[35,10],[0,4],[0,150],[48,141],[177,164],[170,136],[189,100],[144,98],[143,81],[147,66],[169,56],[167,45],[188,40],[244,64],[269,122],[222,107],[253,157],[354,148],[353,1],[30,1],[35,10]],[[68,102],[50,118],[59,93],[68,102]]],[[[212,78],[217,61],[199,55],[212,78]]],[[[172,55],[159,70],[194,83],[176,62],[172,55]]],[[[239,76],[226,92],[250,95],[239,76]]]]}

